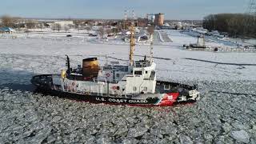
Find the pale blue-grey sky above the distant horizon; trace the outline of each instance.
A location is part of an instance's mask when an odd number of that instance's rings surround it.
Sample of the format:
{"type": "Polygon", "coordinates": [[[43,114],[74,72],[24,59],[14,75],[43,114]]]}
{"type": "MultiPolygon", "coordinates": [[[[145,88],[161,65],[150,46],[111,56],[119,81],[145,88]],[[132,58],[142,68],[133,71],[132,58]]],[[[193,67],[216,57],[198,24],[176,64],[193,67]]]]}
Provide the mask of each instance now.
{"type": "Polygon", "coordinates": [[[202,19],[207,14],[244,13],[249,0],[1,0],[0,15],[26,18],[123,18],[164,13],[166,19],[202,19]]]}

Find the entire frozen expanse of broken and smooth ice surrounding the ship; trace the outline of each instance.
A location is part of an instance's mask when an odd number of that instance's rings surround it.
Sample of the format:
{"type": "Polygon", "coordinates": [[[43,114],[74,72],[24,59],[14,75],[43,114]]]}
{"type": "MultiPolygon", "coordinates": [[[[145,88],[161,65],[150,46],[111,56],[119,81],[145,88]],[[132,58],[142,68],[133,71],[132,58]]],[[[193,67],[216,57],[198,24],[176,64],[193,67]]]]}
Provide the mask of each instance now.
{"type": "MultiPolygon", "coordinates": [[[[0,38],[0,143],[256,141],[254,53],[182,50],[196,38],[175,30],[154,34],[157,78],[198,83],[202,99],[192,106],[94,105],[34,94],[30,78],[60,73],[66,67],[65,54],[70,55],[71,66],[89,57],[104,64],[106,54],[107,61],[127,63],[127,43],[71,34],[72,38],[50,32],[0,38]]],[[[135,58],[149,53],[148,45],[138,44],[135,58]]]]}

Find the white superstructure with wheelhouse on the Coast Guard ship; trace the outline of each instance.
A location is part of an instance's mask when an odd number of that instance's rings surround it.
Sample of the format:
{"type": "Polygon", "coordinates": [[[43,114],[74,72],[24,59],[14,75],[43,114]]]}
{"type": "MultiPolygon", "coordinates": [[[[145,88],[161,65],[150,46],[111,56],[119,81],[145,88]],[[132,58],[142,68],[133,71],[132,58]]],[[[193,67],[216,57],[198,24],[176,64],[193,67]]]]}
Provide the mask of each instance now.
{"type": "MultiPolygon", "coordinates": [[[[156,64],[146,59],[135,61],[134,66],[104,66],[93,81],[74,81],[64,78],[63,90],[78,93],[138,95],[154,94],[156,88],[156,64]]],[[[70,74],[72,76],[72,74],[70,74]]],[[[77,74],[73,74],[74,76],[77,74]]]]}

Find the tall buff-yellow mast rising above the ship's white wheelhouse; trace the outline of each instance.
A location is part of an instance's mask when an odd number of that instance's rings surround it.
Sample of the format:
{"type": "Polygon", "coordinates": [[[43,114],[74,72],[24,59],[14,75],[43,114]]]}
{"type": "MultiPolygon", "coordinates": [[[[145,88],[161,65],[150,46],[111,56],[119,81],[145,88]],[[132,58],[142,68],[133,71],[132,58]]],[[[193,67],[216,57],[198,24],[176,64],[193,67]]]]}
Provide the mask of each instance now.
{"type": "Polygon", "coordinates": [[[134,65],[134,46],[135,46],[135,42],[134,42],[134,11],[133,11],[133,21],[131,23],[130,26],[130,66],[134,65]]]}

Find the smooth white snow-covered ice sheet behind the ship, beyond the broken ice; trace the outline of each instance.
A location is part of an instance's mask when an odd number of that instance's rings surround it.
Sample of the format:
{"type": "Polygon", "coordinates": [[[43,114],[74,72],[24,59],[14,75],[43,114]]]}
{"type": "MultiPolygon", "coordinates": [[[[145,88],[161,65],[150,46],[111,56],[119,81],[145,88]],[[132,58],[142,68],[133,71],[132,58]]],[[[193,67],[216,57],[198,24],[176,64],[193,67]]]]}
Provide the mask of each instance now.
{"type": "MultiPolygon", "coordinates": [[[[254,66],[256,65],[256,58],[254,53],[212,53],[182,50],[182,41],[175,38],[175,36],[182,37],[182,35],[177,36],[177,34],[174,34],[173,44],[154,46],[154,57],[157,57],[154,61],[158,64],[158,78],[167,78],[174,81],[256,80],[256,75],[254,74],[254,71],[256,71],[256,66],[254,66]]],[[[95,44],[79,38],[0,38],[1,66],[10,66],[11,63],[8,63],[9,61],[20,62],[17,66],[13,66],[14,69],[25,64],[25,66],[22,66],[24,70],[33,68],[34,72],[39,74],[45,71],[50,73],[52,67],[62,66],[59,67],[58,71],[61,70],[60,68],[64,68],[65,62],[63,58],[65,58],[65,54],[70,55],[71,62],[74,60],[74,64],[79,64],[82,62],[82,58],[91,56],[99,57],[102,64],[104,64],[106,54],[110,54],[110,61],[116,61],[115,58],[128,59],[128,52],[129,46],[127,45],[95,44]],[[16,56],[18,58],[15,58],[16,56]],[[37,66],[33,66],[41,65],[37,63],[37,59],[34,59],[34,57],[41,58],[38,61],[42,63],[49,63],[51,60],[55,63],[41,70],[37,66]],[[49,57],[51,58],[49,59],[49,57]],[[6,60],[9,61],[6,63],[6,60]],[[27,65],[27,63],[30,63],[30,65],[27,65]]],[[[144,56],[144,54],[149,55],[149,53],[149,46],[136,46],[135,54],[144,56]]]]}

